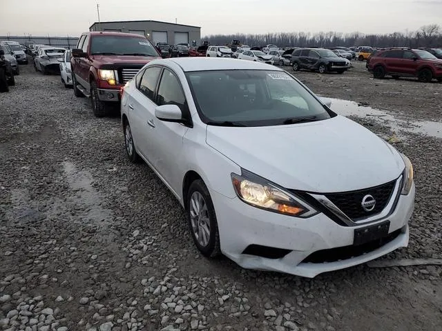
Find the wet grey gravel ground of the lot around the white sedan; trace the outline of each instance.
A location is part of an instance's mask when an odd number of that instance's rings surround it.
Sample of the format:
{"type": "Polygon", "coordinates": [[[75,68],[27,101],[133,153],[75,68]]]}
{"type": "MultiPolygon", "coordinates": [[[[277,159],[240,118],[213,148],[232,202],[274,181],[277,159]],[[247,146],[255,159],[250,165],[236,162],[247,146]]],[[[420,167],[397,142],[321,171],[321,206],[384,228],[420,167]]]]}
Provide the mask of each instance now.
{"type": "MultiPolygon", "coordinates": [[[[373,81],[355,66],[296,75],[327,97],[441,120],[441,84],[373,81]]],[[[96,119],[88,99],[32,65],[16,78],[0,94],[0,330],[441,330],[441,266],[302,279],[201,257],[172,194],[126,160],[118,114],[96,119]]],[[[441,139],[398,138],[416,209],[409,247],[384,259],[442,259],[441,139]]]]}

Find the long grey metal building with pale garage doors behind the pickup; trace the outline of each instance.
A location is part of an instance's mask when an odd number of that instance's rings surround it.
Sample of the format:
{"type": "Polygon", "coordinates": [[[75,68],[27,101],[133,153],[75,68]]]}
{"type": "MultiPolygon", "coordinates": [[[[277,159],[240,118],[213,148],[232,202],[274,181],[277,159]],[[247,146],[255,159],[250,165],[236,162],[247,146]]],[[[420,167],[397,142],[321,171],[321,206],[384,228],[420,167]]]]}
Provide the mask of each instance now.
{"type": "Polygon", "coordinates": [[[200,45],[201,27],[160,21],[111,21],[95,22],[90,31],[115,31],[141,34],[157,43],[189,43],[200,45]]]}

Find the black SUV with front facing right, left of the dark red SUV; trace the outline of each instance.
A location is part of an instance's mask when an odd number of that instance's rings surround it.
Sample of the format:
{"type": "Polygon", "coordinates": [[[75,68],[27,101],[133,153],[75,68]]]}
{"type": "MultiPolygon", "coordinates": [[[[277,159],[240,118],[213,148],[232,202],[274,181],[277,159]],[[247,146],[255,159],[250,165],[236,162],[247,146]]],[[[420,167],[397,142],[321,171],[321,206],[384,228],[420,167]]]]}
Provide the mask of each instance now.
{"type": "Polygon", "coordinates": [[[308,69],[321,74],[326,72],[342,74],[352,66],[352,63],[325,48],[299,48],[291,56],[291,66],[294,71],[308,69]]]}

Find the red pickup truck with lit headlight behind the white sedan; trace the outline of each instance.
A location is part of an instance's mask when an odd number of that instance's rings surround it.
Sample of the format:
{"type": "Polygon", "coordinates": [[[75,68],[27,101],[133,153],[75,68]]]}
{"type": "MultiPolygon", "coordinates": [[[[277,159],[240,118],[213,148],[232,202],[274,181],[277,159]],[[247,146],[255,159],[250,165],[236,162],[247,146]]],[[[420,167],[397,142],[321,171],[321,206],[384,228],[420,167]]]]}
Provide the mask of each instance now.
{"type": "Polygon", "coordinates": [[[72,50],[70,66],[76,97],[90,97],[96,117],[118,103],[119,90],[153,59],[161,59],[151,41],[138,34],[85,32],[72,50]]]}

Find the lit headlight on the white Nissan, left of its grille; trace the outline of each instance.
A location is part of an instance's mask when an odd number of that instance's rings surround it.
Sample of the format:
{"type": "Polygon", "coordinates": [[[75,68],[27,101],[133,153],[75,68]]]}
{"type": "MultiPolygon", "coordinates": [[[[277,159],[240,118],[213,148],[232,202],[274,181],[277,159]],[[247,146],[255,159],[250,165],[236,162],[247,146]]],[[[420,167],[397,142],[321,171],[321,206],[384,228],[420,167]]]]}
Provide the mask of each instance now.
{"type": "Polygon", "coordinates": [[[247,170],[242,170],[241,176],[231,174],[231,179],[238,197],[249,205],[302,218],[311,217],[317,213],[294,194],[247,170]]]}

